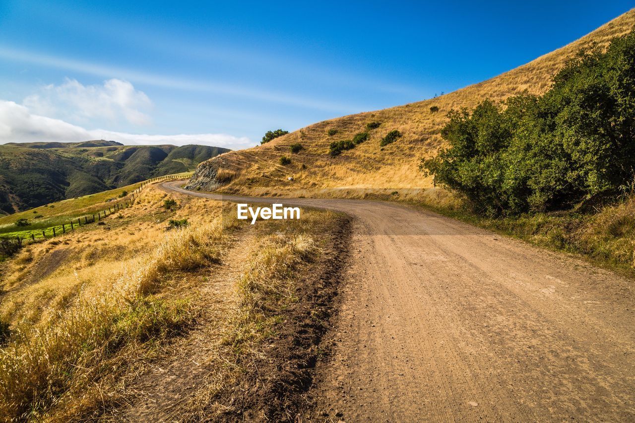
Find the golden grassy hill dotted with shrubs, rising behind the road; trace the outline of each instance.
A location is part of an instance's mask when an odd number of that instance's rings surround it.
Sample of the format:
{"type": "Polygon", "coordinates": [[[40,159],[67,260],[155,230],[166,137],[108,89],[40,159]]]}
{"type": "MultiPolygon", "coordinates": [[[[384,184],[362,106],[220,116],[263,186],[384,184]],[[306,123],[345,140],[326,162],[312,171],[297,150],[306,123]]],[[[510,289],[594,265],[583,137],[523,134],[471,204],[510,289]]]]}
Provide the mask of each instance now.
{"type": "Polygon", "coordinates": [[[471,109],[485,98],[501,101],[525,91],[542,94],[551,85],[551,77],[580,49],[603,48],[634,25],[632,10],[563,48],[488,81],[422,102],[319,122],[252,149],[223,154],[201,164],[189,187],[222,187],[224,192],[253,195],[297,195],[305,189],[430,188],[432,180],[418,171],[418,164],[421,158],[434,156],[443,145],[440,131],[448,121],[448,111],[471,109]],[[369,129],[367,125],[373,122],[380,125],[369,129]],[[394,130],[402,137],[381,146],[380,140],[394,130]],[[333,131],[335,134],[329,135],[333,131]],[[331,142],[351,140],[357,133],[368,133],[368,139],[338,156],[330,156],[331,142]],[[302,150],[292,154],[290,145],[297,143],[302,150]],[[291,163],[281,164],[281,156],[288,156],[291,163]]]}

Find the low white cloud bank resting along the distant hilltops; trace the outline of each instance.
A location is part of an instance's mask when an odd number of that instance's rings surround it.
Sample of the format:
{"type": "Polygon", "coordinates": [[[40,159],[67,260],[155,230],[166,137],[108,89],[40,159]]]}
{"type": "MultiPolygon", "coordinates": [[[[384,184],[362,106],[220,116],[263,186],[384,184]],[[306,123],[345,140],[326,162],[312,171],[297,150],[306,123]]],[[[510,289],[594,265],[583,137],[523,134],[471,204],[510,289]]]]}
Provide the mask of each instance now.
{"type": "Polygon", "coordinates": [[[32,114],[24,105],[0,100],[0,144],[35,141],[76,142],[95,139],[113,140],[123,144],[204,144],[234,150],[255,145],[249,138],[222,133],[135,135],[107,130],[86,130],[62,119],[32,114]]]}

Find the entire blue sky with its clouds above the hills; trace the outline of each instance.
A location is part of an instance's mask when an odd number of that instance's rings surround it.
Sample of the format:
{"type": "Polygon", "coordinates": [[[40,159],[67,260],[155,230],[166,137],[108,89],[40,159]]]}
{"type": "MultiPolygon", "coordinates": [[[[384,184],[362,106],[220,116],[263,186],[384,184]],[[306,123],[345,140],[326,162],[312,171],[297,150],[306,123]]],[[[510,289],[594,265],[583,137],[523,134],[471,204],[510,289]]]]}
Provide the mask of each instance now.
{"type": "Polygon", "coordinates": [[[430,98],[561,47],[627,1],[0,2],[0,143],[257,144],[430,98]]]}

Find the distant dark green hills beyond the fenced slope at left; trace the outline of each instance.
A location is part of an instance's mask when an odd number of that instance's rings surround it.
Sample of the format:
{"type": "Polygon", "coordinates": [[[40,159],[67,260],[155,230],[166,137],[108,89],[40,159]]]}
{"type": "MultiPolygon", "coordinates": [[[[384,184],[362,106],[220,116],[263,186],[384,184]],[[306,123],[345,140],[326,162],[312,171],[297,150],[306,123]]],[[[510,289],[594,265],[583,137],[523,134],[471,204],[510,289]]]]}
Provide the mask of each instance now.
{"type": "Polygon", "coordinates": [[[191,171],[229,149],[208,145],[123,145],[115,141],[0,145],[0,211],[75,198],[191,171]]]}

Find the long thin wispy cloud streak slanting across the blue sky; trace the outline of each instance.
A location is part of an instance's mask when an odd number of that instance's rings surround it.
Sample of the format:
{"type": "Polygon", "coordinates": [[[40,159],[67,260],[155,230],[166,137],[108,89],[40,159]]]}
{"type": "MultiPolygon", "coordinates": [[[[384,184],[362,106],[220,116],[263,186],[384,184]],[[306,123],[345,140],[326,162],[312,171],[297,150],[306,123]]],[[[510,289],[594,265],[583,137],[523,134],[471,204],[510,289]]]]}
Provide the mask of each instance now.
{"type": "Polygon", "coordinates": [[[307,98],[288,95],[286,93],[267,91],[254,87],[243,87],[236,86],[234,84],[214,83],[211,81],[200,81],[195,79],[164,76],[161,74],[152,74],[133,69],[124,69],[121,67],[94,64],[82,60],[55,57],[45,55],[43,53],[34,53],[32,51],[17,50],[6,46],[0,46],[0,57],[12,62],[24,62],[55,67],[58,69],[72,70],[74,72],[82,72],[84,74],[92,74],[100,77],[119,77],[128,81],[159,86],[161,88],[195,92],[206,91],[208,93],[233,95],[251,98],[253,100],[264,100],[266,102],[281,103],[297,107],[305,107],[307,109],[338,113],[351,113],[363,110],[361,106],[344,105],[340,102],[310,100],[307,98]]]}

